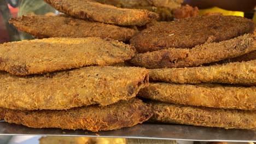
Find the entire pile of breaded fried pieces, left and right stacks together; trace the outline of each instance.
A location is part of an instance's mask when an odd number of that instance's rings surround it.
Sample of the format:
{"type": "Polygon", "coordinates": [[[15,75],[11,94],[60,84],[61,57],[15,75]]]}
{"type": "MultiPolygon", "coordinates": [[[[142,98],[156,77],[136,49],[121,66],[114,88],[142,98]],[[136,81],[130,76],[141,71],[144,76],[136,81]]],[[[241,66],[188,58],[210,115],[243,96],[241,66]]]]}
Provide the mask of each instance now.
{"type": "Polygon", "coordinates": [[[151,23],[159,16],[148,10],[91,0],[45,2],[69,16],[10,19],[40,39],[0,45],[0,119],[91,131],[131,127],[150,117],[255,128],[251,20],[212,15],[151,23]],[[141,32],[130,29],[147,24],[141,32]],[[144,68],[113,66],[124,61],[144,68]],[[137,93],[154,101],[144,104],[137,93]]]}

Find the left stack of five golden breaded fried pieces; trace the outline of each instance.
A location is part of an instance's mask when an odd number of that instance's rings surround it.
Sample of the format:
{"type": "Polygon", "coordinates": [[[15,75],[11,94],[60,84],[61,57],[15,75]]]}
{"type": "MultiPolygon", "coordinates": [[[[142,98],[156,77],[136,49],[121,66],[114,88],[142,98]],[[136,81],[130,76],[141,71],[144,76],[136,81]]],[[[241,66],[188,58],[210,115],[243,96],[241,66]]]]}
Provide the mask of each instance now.
{"type": "Polygon", "coordinates": [[[43,39],[0,45],[0,119],[91,131],[147,121],[153,113],[135,96],[148,85],[148,70],[108,65],[135,56],[135,47],[121,42],[135,34],[125,26],[146,25],[158,14],[93,1],[45,2],[71,16],[10,19],[43,39]]]}

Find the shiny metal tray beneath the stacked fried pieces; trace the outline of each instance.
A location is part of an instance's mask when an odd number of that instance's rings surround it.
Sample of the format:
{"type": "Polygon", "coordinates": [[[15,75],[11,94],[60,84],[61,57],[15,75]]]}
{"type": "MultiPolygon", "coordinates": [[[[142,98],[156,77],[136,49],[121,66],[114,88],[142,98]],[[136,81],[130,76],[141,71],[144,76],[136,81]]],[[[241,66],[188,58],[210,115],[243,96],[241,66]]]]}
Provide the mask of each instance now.
{"type": "Polygon", "coordinates": [[[256,131],[253,130],[150,123],[138,124],[131,128],[93,133],[84,130],[34,129],[23,125],[0,122],[0,135],[98,136],[134,139],[256,142],[255,134],[256,131]]]}

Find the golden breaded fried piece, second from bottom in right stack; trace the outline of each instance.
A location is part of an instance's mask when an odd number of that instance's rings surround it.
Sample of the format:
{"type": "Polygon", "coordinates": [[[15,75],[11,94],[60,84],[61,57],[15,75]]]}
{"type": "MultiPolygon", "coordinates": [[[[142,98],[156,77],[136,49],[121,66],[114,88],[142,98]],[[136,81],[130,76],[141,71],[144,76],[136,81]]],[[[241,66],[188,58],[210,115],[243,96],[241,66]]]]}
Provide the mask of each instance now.
{"type": "Polygon", "coordinates": [[[256,87],[218,84],[149,83],[138,96],[172,104],[256,110],[256,87]]]}

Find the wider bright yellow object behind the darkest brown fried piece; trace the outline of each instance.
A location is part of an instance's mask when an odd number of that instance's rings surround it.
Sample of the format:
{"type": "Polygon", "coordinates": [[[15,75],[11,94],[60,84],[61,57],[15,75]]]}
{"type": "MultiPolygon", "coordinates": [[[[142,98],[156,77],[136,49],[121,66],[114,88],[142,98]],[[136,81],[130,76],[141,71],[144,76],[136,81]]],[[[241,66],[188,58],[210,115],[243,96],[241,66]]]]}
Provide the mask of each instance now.
{"type": "Polygon", "coordinates": [[[242,11],[230,11],[230,10],[220,9],[218,7],[199,10],[199,15],[204,15],[206,13],[222,13],[223,15],[236,15],[236,16],[242,16],[242,17],[244,16],[244,13],[242,11]]]}

